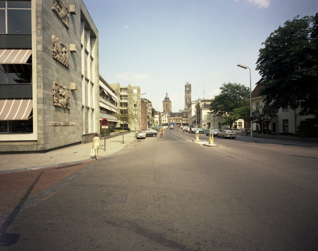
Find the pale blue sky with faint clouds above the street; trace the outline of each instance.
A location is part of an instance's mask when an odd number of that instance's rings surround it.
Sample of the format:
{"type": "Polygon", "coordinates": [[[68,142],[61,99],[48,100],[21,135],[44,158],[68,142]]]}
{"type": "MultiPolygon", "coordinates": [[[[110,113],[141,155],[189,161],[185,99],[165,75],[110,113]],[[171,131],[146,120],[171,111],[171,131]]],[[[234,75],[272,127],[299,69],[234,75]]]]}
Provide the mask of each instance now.
{"type": "Polygon", "coordinates": [[[252,90],[262,43],[279,26],[318,11],[317,0],[83,0],[99,31],[99,71],[110,84],[140,86],[142,97],[162,111],[184,109],[184,85],[192,100],[211,99],[223,83],[252,90]],[[204,95],[205,89],[205,95],[204,95]]]}

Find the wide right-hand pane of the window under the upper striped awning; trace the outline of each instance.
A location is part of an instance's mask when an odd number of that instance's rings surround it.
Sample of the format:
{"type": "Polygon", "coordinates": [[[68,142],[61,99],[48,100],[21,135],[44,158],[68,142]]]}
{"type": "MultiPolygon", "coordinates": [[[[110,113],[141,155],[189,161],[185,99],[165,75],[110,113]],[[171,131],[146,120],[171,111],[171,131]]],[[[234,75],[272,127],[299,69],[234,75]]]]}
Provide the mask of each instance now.
{"type": "Polygon", "coordinates": [[[8,83],[32,83],[30,68],[23,64],[8,64],[8,83]]]}

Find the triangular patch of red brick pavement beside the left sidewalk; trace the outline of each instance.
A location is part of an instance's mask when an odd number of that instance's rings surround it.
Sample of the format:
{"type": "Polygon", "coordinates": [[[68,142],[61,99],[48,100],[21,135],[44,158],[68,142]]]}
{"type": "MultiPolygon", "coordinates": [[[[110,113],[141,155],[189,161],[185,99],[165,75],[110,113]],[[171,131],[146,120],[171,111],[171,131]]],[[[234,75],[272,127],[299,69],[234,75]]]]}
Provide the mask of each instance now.
{"type": "Polygon", "coordinates": [[[0,215],[92,162],[94,160],[51,168],[0,173],[0,215]]]}

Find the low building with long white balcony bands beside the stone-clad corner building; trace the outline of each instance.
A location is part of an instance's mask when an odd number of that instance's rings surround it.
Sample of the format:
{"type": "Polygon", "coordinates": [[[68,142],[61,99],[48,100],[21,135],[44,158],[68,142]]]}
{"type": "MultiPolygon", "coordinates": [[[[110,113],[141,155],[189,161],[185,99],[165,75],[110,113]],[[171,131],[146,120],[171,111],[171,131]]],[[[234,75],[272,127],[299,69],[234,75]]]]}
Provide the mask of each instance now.
{"type": "Polygon", "coordinates": [[[108,120],[108,128],[117,127],[118,120],[116,115],[118,113],[118,101],[115,95],[115,90],[107,83],[102,76],[99,76],[99,107],[100,107],[100,121],[102,119],[108,120]]]}

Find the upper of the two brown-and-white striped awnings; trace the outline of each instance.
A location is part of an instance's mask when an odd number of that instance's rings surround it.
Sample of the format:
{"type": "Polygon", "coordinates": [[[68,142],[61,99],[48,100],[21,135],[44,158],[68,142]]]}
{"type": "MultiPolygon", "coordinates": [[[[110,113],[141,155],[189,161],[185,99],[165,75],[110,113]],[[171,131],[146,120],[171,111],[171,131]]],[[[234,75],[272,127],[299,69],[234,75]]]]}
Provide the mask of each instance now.
{"type": "Polygon", "coordinates": [[[31,54],[31,49],[0,49],[0,63],[24,64],[31,54]]]}

